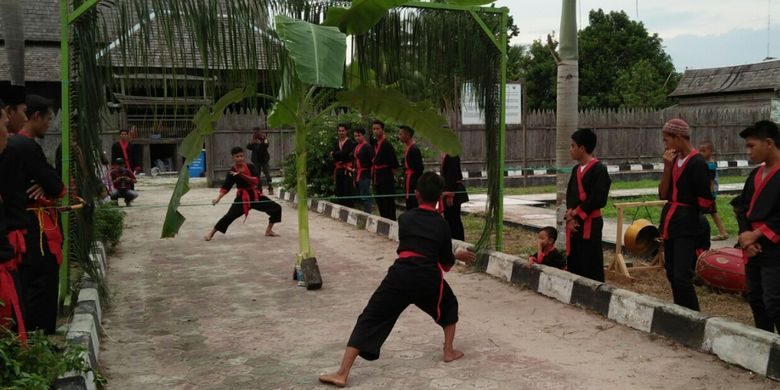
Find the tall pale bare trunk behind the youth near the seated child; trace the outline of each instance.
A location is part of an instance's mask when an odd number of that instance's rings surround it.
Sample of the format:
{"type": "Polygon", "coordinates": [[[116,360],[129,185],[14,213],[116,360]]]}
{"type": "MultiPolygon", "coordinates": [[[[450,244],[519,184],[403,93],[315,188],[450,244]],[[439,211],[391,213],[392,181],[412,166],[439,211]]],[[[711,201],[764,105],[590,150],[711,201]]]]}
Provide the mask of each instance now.
{"type": "MultiPolygon", "coordinates": [[[[555,166],[556,174],[556,225],[558,231],[563,231],[564,215],[566,213],[566,185],[571,164],[569,156],[570,137],[578,125],[577,99],[579,96],[579,53],[577,49],[577,18],[576,0],[563,0],[561,10],[561,42],[560,61],[558,62],[558,95],[557,118],[555,132],[555,166]]],[[[566,235],[559,237],[558,245],[566,245],[566,235]]]]}

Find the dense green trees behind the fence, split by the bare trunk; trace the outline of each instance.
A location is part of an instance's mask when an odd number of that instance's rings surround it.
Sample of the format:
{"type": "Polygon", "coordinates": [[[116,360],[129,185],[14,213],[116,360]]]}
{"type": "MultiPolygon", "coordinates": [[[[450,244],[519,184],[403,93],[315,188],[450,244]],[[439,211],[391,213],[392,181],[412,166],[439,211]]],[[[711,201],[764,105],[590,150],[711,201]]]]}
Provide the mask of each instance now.
{"type": "MultiPolygon", "coordinates": [[[[534,41],[519,58],[510,57],[510,69],[518,69],[526,80],[531,109],[556,105],[555,60],[548,46],[534,41]]],[[[680,75],[664,52],[661,38],[650,35],[641,22],[630,20],[624,12],[591,11],[590,25],[579,33],[579,53],[582,108],[660,108],[673,103],[667,96],[680,75]]]]}

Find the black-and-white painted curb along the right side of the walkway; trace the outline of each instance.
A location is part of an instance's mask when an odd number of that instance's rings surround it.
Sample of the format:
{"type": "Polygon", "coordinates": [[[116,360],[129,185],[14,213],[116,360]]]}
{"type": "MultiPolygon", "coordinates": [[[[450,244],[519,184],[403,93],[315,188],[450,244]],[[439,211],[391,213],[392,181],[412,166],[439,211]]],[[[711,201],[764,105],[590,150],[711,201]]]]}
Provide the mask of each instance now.
{"type": "MultiPolygon", "coordinates": [[[[294,198],[294,193],[279,192],[279,199],[292,202],[294,198]]],[[[395,221],[322,200],[310,200],[309,208],[359,229],[398,240],[395,221]]],[[[452,242],[453,247],[471,246],[463,241],[452,242]]],[[[556,268],[538,264],[528,268],[526,259],[501,252],[480,254],[477,268],[565,304],[592,310],[621,325],[662,336],[756,374],[780,380],[780,336],[776,334],[556,268]]]]}

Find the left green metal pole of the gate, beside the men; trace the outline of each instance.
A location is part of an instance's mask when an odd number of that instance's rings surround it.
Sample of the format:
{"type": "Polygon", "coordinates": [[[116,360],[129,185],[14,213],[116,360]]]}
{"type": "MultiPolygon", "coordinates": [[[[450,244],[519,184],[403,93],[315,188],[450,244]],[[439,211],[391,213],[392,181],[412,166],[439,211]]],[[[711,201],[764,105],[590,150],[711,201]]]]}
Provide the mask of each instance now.
{"type": "MultiPolygon", "coordinates": [[[[62,109],[60,111],[61,145],[62,145],[62,182],[65,185],[64,204],[70,204],[70,79],[69,72],[69,41],[70,23],[68,18],[68,0],[60,0],[60,90],[62,93],[62,109]]],[[[62,265],[60,265],[59,302],[66,305],[69,286],[69,260],[70,260],[70,215],[62,214],[62,265]]]]}

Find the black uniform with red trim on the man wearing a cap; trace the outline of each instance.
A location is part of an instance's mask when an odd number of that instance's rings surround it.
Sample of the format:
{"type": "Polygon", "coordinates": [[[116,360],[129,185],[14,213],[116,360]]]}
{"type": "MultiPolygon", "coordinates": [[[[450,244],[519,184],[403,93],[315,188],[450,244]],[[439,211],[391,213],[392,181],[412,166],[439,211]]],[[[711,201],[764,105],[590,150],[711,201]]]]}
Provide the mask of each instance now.
{"type": "Polygon", "coordinates": [[[671,193],[666,194],[668,202],[661,211],[660,225],[666,278],[672,285],[674,303],[699,310],[693,277],[697,249],[709,247],[709,224],[703,212],[714,203],[707,161],[694,149],[682,163],[677,158],[672,164],[671,193]]]}

